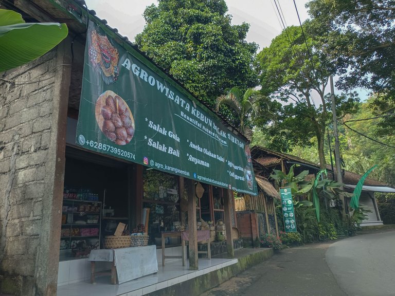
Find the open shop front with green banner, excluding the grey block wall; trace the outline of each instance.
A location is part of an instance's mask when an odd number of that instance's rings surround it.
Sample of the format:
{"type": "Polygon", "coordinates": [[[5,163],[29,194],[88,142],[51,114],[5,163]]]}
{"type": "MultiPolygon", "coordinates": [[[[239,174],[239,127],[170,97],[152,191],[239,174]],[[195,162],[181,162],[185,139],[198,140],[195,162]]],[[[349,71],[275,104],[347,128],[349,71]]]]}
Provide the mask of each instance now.
{"type": "Polygon", "coordinates": [[[81,95],[69,101],[59,286],[111,268],[97,250],[114,249],[113,265],[121,247],[158,266],[188,255],[194,270],[217,239],[232,256],[233,191],[257,192],[246,139],[110,35],[89,21],[81,95]]]}

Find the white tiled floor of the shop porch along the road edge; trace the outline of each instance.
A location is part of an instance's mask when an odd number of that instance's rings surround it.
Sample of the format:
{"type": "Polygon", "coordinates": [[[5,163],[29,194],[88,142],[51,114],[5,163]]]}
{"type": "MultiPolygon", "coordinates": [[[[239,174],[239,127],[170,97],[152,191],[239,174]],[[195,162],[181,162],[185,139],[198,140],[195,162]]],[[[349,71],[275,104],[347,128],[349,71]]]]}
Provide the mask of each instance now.
{"type": "Polygon", "coordinates": [[[236,263],[237,259],[211,258],[211,260],[207,260],[202,258],[199,259],[199,270],[189,270],[188,260],[186,266],[182,266],[181,259],[173,260],[169,263],[166,262],[166,266],[160,264],[158,272],[155,274],[146,275],[121,285],[111,285],[110,275],[97,276],[95,284],[85,281],[59,286],[57,295],[141,296],[236,263]]]}

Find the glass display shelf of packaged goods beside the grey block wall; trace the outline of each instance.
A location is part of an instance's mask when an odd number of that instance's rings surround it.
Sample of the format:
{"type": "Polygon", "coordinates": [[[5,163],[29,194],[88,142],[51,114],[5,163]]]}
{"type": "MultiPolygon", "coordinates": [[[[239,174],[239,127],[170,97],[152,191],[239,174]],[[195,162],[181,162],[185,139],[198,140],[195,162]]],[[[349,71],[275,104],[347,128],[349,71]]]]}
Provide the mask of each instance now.
{"type": "Polygon", "coordinates": [[[86,257],[90,250],[99,248],[101,209],[100,201],[63,199],[61,260],[86,257]],[[85,223],[75,223],[76,221],[85,223]],[[88,221],[94,223],[87,223],[88,221]]]}

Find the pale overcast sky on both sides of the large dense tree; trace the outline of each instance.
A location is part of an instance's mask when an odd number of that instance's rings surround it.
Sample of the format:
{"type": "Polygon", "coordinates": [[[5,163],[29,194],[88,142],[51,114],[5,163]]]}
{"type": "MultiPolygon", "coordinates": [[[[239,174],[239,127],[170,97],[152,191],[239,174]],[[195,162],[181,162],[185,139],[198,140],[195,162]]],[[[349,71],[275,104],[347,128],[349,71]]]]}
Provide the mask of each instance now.
{"type": "MultiPolygon", "coordinates": [[[[277,17],[278,13],[274,0],[225,0],[228,13],[232,15],[232,24],[243,22],[250,24],[247,42],[256,42],[262,49],[270,45],[275,36],[281,33],[282,27],[277,17]]],[[[280,4],[286,25],[299,25],[293,0],[277,0],[280,4]]],[[[300,20],[307,19],[306,0],[296,0],[296,7],[300,20]]],[[[105,18],[107,24],[117,28],[121,35],[134,41],[136,34],[140,33],[145,25],[142,13],[151,4],[157,1],[147,0],[85,0],[88,9],[96,11],[99,18],[105,18]]]]}

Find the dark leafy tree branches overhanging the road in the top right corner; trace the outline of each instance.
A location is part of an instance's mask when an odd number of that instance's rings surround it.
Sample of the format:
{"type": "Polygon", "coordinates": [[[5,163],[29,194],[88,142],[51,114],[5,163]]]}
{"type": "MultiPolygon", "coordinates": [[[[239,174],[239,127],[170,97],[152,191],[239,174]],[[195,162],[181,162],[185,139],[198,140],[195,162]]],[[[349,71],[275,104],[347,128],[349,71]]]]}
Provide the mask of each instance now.
{"type": "MultiPolygon", "coordinates": [[[[336,86],[371,89],[380,95],[371,101],[374,112],[393,115],[395,3],[392,0],[312,0],[307,7],[312,17],[309,30],[317,36],[333,69],[341,76],[336,86]]],[[[381,126],[385,128],[384,133],[393,133],[395,116],[387,117],[381,126]]]]}

